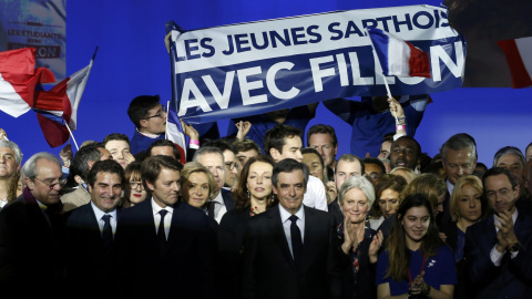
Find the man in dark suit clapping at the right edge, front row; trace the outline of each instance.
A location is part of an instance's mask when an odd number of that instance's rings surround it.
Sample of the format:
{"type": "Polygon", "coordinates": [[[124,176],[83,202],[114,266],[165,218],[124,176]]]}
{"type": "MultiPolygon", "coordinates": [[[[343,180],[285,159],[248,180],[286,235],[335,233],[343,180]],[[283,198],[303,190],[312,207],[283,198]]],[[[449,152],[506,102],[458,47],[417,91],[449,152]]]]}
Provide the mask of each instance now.
{"type": "Polygon", "coordinates": [[[532,217],[518,210],[516,178],[505,168],[482,177],[494,212],[466,231],[464,255],[477,298],[530,298],[532,293],[532,217]]]}

